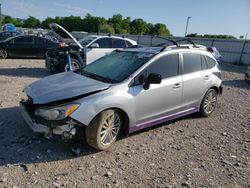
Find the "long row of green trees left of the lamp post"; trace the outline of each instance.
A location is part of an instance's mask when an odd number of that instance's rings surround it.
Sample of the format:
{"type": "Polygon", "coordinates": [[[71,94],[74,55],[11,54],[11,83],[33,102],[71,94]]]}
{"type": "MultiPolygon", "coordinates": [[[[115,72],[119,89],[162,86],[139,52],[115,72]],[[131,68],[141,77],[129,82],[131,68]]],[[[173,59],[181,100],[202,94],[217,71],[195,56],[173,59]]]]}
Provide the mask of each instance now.
{"type": "Polygon", "coordinates": [[[43,21],[40,21],[33,16],[29,16],[29,18],[25,20],[5,16],[2,21],[3,24],[13,23],[17,27],[44,29],[47,29],[49,24],[53,22],[58,23],[68,31],[172,36],[170,30],[165,24],[152,24],[141,18],[132,20],[130,17],[124,18],[121,14],[115,14],[113,17],[108,19],[87,14],[84,18],[81,18],[80,16],[57,16],[55,18],[47,17],[43,21]]]}

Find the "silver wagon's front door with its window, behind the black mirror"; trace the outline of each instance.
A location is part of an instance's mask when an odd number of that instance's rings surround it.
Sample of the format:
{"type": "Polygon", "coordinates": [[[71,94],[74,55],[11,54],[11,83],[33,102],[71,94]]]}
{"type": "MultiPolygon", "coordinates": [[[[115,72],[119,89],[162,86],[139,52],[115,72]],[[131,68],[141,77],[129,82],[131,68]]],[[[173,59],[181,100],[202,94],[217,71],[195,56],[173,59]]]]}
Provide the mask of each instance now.
{"type": "Polygon", "coordinates": [[[142,84],[139,84],[141,81],[136,81],[141,80],[141,75],[135,78],[132,93],[137,125],[173,114],[181,105],[182,77],[179,74],[178,54],[158,58],[144,72],[145,75],[160,74],[162,81],[144,90],[142,84]]]}

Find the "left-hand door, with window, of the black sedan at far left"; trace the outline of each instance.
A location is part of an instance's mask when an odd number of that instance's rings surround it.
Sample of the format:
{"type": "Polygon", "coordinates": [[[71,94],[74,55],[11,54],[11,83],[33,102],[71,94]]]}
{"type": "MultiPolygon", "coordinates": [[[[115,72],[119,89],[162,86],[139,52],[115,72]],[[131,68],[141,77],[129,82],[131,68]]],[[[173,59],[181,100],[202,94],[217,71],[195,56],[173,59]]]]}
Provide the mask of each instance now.
{"type": "Polygon", "coordinates": [[[30,55],[33,44],[33,36],[19,36],[8,44],[8,54],[12,57],[27,57],[30,55]]]}

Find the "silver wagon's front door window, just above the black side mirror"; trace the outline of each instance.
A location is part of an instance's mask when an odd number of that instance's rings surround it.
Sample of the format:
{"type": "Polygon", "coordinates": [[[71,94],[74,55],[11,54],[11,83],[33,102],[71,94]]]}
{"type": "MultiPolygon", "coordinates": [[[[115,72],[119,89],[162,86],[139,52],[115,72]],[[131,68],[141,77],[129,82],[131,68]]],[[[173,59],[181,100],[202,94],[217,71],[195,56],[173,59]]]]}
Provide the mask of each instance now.
{"type": "Polygon", "coordinates": [[[179,55],[166,55],[157,59],[149,68],[148,74],[157,73],[168,78],[179,74],[179,55]]]}

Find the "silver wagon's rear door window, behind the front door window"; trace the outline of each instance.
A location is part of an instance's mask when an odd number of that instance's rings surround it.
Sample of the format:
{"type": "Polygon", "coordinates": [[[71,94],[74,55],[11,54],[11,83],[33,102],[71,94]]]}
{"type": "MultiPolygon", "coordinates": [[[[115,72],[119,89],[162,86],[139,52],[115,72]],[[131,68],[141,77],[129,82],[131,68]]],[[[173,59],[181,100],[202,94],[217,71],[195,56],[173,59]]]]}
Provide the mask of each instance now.
{"type": "Polygon", "coordinates": [[[192,73],[202,70],[201,56],[199,54],[183,53],[183,73],[192,73]]]}

